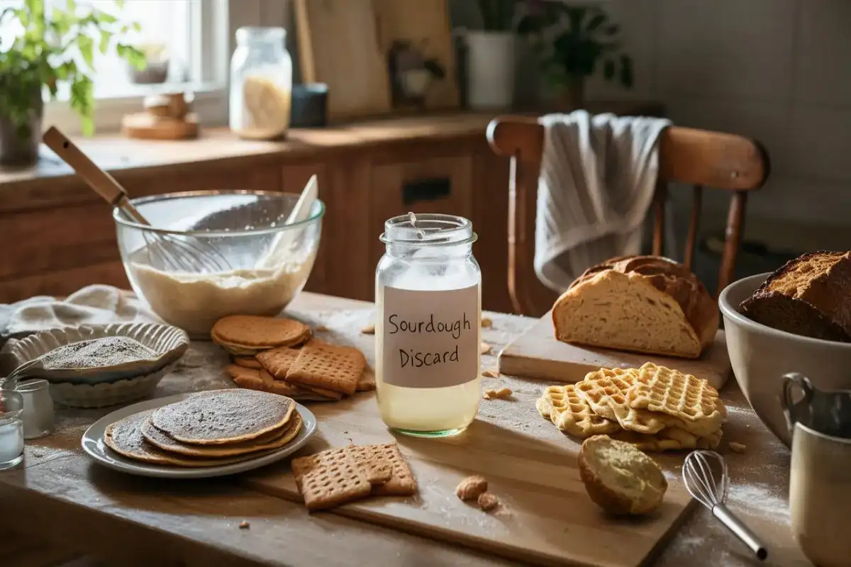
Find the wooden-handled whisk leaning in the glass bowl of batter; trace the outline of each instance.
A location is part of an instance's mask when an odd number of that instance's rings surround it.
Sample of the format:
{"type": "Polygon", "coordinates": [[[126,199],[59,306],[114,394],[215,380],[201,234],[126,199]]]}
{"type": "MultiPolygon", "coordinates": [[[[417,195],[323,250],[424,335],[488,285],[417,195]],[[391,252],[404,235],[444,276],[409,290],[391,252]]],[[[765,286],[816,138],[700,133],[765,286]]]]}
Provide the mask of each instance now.
{"type": "MultiPolygon", "coordinates": [[[[43,141],[112,207],[121,209],[129,219],[139,224],[151,225],[130,203],[127,191],[109,173],[97,167],[65,134],[50,127],[44,133],[43,141]]],[[[202,239],[160,234],[152,230],[143,230],[142,237],[154,268],[186,272],[224,272],[231,269],[227,258],[202,239]]]]}

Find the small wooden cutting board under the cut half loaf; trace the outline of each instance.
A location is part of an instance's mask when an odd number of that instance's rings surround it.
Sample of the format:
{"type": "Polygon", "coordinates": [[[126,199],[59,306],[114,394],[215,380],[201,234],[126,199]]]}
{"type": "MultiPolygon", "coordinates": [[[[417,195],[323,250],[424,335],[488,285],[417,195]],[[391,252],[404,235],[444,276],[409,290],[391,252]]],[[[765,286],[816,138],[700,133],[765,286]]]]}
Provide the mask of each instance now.
{"type": "Polygon", "coordinates": [[[722,388],[732,373],[723,331],[718,331],[715,342],[700,359],[677,359],[561,343],[553,333],[550,313],[502,350],[500,372],[554,382],[580,382],[585,374],[599,368],[638,367],[645,362],[705,378],[714,388],[722,388]]]}

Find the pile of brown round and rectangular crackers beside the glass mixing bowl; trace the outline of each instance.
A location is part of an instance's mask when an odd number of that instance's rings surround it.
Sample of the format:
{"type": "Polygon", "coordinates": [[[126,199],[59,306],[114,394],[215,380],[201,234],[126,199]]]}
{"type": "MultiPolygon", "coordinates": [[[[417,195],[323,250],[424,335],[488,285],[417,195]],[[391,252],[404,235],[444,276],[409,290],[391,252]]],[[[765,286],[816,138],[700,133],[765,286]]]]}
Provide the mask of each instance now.
{"type": "Polygon", "coordinates": [[[375,388],[360,350],[312,338],[311,328],[297,320],[230,315],[210,334],[233,355],[225,370],[240,388],[302,402],[336,401],[375,388]]]}

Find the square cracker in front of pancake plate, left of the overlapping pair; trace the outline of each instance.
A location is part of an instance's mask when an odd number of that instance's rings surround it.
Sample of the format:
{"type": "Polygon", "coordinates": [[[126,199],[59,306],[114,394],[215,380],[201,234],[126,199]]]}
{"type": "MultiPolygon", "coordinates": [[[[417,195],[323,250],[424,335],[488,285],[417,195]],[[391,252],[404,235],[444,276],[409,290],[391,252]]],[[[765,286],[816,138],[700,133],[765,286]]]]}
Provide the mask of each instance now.
{"type": "Polygon", "coordinates": [[[308,510],[325,510],[368,496],[372,485],[345,449],[293,459],[295,485],[308,510]]]}

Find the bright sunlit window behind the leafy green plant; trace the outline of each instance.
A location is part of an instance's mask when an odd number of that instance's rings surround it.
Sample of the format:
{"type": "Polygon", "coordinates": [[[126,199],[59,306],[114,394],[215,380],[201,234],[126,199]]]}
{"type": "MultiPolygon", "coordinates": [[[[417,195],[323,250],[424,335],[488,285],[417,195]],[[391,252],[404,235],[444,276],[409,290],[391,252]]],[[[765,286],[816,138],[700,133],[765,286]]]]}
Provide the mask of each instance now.
{"type": "MultiPolygon", "coordinates": [[[[66,0],[43,1],[48,17],[51,6],[67,6],[66,0]]],[[[0,0],[0,11],[23,3],[0,0]]],[[[106,55],[94,49],[95,128],[116,129],[123,114],[141,110],[145,95],[174,90],[195,94],[196,111],[204,122],[226,121],[227,0],[125,0],[121,7],[112,0],[76,0],[76,6],[79,11],[94,7],[138,24],[121,42],[140,48],[149,61],[145,71],[137,71],[114,49],[106,55]]],[[[0,51],[20,33],[16,24],[7,18],[0,26],[0,51]]],[[[58,100],[46,105],[45,122],[79,133],[79,120],[67,99],[67,86],[60,85],[58,100]]]]}

